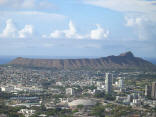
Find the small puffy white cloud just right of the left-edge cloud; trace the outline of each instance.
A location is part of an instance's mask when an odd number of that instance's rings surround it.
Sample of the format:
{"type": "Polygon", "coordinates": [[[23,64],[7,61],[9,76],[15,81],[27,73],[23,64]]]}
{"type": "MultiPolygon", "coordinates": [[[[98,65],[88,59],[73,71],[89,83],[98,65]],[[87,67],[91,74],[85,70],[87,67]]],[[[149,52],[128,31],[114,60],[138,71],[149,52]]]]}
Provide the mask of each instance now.
{"type": "Polygon", "coordinates": [[[25,25],[25,27],[18,32],[19,38],[29,37],[33,34],[32,25],[25,25]]]}

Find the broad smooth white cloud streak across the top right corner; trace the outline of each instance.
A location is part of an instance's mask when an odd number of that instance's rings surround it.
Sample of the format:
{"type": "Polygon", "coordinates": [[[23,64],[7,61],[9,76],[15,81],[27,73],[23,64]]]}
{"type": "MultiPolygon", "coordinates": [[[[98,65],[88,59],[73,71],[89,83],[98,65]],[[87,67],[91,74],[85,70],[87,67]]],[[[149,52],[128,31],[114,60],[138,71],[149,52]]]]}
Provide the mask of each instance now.
{"type": "Polygon", "coordinates": [[[155,0],[84,0],[85,4],[91,4],[124,14],[143,15],[156,21],[155,0]]]}

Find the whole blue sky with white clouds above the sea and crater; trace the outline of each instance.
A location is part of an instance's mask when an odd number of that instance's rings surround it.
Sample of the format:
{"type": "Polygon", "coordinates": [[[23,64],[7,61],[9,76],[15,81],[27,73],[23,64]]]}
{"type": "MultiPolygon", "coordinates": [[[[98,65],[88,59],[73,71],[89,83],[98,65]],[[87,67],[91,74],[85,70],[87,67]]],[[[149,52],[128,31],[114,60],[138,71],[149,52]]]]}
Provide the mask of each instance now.
{"type": "Polygon", "coordinates": [[[0,0],[0,56],[156,58],[156,0],[0,0]]]}

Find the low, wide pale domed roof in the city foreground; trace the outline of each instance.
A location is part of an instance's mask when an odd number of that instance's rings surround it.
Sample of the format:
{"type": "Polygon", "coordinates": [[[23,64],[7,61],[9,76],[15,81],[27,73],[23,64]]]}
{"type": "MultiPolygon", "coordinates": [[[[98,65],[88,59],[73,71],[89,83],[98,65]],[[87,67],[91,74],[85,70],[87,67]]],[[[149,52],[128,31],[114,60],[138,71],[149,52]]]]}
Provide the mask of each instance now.
{"type": "Polygon", "coordinates": [[[94,106],[96,102],[94,100],[90,99],[77,99],[72,102],[69,102],[68,105],[70,107],[78,106],[78,105],[83,105],[83,106],[94,106]]]}

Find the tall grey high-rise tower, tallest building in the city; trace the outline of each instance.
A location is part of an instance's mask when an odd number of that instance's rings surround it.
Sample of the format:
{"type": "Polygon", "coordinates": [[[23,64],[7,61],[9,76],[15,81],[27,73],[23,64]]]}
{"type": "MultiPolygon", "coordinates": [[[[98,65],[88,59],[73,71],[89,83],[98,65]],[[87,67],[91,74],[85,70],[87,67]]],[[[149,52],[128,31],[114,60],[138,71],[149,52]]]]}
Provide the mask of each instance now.
{"type": "Polygon", "coordinates": [[[106,73],[105,88],[106,88],[107,94],[112,93],[112,74],[110,74],[110,73],[106,73]]]}

